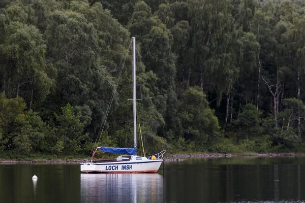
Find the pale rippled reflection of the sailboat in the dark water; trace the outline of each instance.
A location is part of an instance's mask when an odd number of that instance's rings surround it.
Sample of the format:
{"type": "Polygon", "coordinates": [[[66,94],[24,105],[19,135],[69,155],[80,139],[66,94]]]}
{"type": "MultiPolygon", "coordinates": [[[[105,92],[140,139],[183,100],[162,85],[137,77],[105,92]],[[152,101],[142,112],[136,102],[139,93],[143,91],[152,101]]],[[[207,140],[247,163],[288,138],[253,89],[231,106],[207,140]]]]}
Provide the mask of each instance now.
{"type": "Polygon", "coordinates": [[[80,174],[81,202],[163,202],[159,174],[80,174]]]}

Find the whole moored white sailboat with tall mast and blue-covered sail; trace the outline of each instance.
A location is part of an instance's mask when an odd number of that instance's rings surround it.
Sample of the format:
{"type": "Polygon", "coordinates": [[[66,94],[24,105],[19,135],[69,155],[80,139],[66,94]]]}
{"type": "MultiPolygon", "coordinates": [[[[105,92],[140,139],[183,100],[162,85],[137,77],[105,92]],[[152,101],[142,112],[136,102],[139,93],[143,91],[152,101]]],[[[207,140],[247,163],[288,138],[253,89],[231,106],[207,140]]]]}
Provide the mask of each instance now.
{"type": "MultiPolygon", "coordinates": [[[[133,108],[134,148],[97,147],[102,152],[122,154],[116,159],[94,161],[88,159],[80,164],[85,173],[157,173],[163,162],[165,150],[148,158],[137,156],[137,114],[136,114],[136,38],[133,37],[133,108]]],[[[96,152],[95,151],[95,152],[96,152]]]]}

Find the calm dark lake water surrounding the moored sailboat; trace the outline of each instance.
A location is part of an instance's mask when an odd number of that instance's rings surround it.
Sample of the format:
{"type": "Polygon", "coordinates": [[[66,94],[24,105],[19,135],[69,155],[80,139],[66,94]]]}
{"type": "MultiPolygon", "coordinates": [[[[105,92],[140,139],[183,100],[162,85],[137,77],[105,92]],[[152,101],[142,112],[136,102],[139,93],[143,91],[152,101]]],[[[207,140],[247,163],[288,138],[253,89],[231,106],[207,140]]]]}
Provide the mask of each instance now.
{"type": "Polygon", "coordinates": [[[305,202],[305,157],[189,159],[165,162],[158,174],[79,170],[0,164],[0,202],[305,202]]]}

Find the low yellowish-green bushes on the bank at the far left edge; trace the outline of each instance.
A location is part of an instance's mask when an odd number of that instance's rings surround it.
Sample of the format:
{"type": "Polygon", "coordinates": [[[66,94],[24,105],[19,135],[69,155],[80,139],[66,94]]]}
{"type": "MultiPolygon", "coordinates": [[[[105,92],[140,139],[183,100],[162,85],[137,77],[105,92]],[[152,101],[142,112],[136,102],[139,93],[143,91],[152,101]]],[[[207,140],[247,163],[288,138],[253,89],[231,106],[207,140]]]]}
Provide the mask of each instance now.
{"type": "Polygon", "coordinates": [[[7,99],[1,94],[0,105],[1,150],[14,150],[19,156],[47,149],[45,136],[49,128],[37,112],[25,112],[26,104],[20,97],[7,99]]]}

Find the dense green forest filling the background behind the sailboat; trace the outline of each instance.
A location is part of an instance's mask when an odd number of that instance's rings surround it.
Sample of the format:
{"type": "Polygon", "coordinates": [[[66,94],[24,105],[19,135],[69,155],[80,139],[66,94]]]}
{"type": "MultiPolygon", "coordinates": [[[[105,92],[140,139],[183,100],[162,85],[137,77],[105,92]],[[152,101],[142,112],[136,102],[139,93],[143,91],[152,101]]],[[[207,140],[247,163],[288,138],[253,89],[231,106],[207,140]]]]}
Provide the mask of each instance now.
{"type": "Polygon", "coordinates": [[[304,7],[2,0],[0,153],[88,155],[100,136],[133,147],[131,37],[148,154],[302,152],[304,7]]]}

